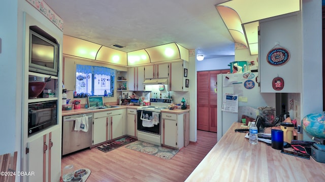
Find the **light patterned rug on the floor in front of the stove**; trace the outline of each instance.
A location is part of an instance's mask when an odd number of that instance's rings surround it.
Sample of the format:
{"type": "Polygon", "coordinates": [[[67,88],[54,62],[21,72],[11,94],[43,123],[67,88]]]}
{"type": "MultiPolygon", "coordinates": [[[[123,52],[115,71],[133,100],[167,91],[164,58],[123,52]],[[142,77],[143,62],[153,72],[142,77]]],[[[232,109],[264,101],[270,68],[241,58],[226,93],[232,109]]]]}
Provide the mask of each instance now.
{"type": "Polygon", "coordinates": [[[125,147],[127,149],[132,149],[168,160],[172,159],[172,157],[174,157],[179,151],[177,149],[161,147],[144,141],[135,141],[126,145],[125,147]]]}

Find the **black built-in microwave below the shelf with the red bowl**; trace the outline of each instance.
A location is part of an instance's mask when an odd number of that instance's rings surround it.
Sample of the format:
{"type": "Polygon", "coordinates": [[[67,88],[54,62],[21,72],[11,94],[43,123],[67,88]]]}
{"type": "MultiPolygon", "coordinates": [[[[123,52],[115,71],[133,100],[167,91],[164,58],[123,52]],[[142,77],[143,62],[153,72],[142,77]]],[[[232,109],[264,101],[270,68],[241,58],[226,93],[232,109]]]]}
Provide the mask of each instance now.
{"type": "Polygon", "coordinates": [[[28,104],[28,135],[56,124],[57,100],[28,104]]]}

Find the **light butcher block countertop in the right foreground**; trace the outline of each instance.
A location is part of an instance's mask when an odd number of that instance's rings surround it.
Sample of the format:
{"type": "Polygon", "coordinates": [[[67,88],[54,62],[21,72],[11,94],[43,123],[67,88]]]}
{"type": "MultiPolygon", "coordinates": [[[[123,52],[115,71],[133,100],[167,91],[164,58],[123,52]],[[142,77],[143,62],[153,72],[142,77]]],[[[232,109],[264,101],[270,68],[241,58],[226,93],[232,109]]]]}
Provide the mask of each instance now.
{"type": "Polygon", "coordinates": [[[325,181],[325,163],[280,153],[258,141],[252,145],[234,123],[186,181],[325,181]]]}

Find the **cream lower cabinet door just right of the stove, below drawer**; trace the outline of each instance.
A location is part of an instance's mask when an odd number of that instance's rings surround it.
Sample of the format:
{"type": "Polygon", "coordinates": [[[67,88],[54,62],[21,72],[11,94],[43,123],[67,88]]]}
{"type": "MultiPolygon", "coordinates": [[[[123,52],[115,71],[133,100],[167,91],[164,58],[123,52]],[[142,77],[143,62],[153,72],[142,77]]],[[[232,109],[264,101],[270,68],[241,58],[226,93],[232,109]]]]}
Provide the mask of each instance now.
{"type": "Polygon", "coordinates": [[[163,144],[177,147],[177,122],[176,120],[163,119],[163,144]]]}

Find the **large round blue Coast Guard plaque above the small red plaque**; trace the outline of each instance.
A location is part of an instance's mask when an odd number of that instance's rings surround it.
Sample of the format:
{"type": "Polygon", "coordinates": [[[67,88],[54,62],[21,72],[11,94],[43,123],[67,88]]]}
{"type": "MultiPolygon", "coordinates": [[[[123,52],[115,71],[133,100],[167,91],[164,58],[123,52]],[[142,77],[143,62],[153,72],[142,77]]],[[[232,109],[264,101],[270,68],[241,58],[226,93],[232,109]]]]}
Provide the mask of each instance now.
{"type": "Polygon", "coordinates": [[[267,54],[266,59],[269,64],[280,66],[290,59],[290,53],[284,48],[275,48],[267,54]]]}

